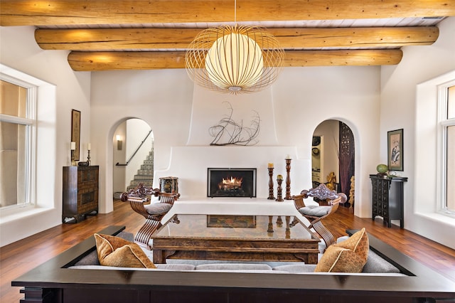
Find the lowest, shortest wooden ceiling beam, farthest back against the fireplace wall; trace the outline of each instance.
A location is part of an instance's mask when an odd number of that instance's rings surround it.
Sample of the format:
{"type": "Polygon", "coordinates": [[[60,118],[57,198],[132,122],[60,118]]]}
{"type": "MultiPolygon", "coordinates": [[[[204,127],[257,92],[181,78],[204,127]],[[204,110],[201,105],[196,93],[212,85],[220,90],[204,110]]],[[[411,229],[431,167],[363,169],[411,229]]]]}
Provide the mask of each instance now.
{"type": "MultiPolygon", "coordinates": [[[[286,52],[284,67],[334,65],[395,65],[402,50],[292,50],[286,52]]],[[[185,52],[71,52],[76,71],[154,70],[185,68],[185,52]]]]}

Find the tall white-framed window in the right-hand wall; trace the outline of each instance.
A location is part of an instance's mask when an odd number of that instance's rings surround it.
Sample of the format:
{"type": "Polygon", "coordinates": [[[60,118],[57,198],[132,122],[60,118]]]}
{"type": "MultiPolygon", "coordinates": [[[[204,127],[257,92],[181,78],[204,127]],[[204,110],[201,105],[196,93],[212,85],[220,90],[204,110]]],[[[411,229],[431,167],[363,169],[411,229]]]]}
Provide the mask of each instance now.
{"type": "Polygon", "coordinates": [[[455,215],[455,81],[439,87],[441,195],[439,209],[455,215]]]}

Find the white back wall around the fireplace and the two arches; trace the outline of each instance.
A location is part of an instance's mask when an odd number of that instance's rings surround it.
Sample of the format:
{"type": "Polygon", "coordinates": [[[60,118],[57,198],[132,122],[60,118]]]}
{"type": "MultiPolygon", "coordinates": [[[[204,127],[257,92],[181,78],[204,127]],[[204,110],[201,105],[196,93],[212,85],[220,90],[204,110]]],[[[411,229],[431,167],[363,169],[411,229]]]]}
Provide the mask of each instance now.
{"type": "MultiPolygon", "coordinates": [[[[185,70],[92,73],[92,136],[99,138],[92,149],[102,171],[101,195],[112,192],[112,134],[129,117],[144,119],[154,131],[154,185],[159,176],[177,176],[181,194],[189,197],[205,194],[206,170],[213,165],[257,167],[258,195],[267,196],[267,163],[275,162],[276,174],[285,174],[286,154],[293,157],[291,194],[311,187],[314,129],[323,120],[339,119],[355,137],[355,213],[370,216],[368,174],[379,158],[379,91],[378,67],[285,68],[272,88],[241,96],[194,87],[185,70]],[[234,107],[236,121],[248,123],[252,110],[260,113],[257,145],[209,146],[208,128],[226,114],[224,101],[234,107]],[[225,156],[229,150],[235,152],[225,156]]],[[[100,203],[100,211],[112,211],[110,195],[100,196],[100,203]]]]}

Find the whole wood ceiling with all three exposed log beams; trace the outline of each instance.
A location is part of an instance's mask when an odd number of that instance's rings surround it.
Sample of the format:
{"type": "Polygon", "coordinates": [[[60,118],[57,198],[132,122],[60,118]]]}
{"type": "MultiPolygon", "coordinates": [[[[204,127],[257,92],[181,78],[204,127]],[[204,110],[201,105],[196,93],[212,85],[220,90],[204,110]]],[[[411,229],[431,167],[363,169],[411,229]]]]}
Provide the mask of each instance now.
{"type": "Polygon", "coordinates": [[[73,70],[185,68],[203,28],[265,26],[285,67],[394,65],[402,46],[427,46],[455,0],[0,1],[1,26],[36,26],[44,50],[70,50],[73,70]]]}

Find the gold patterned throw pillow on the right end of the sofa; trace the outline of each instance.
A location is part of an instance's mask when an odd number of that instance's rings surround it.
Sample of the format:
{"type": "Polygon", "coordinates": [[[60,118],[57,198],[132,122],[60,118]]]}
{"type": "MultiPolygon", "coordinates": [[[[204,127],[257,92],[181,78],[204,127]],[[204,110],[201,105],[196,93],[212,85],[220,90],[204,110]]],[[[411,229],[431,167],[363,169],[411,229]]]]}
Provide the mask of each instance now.
{"type": "Polygon", "coordinates": [[[323,253],[315,272],[362,272],[368,260],[370,243],[365,228],[323,253]]]}

